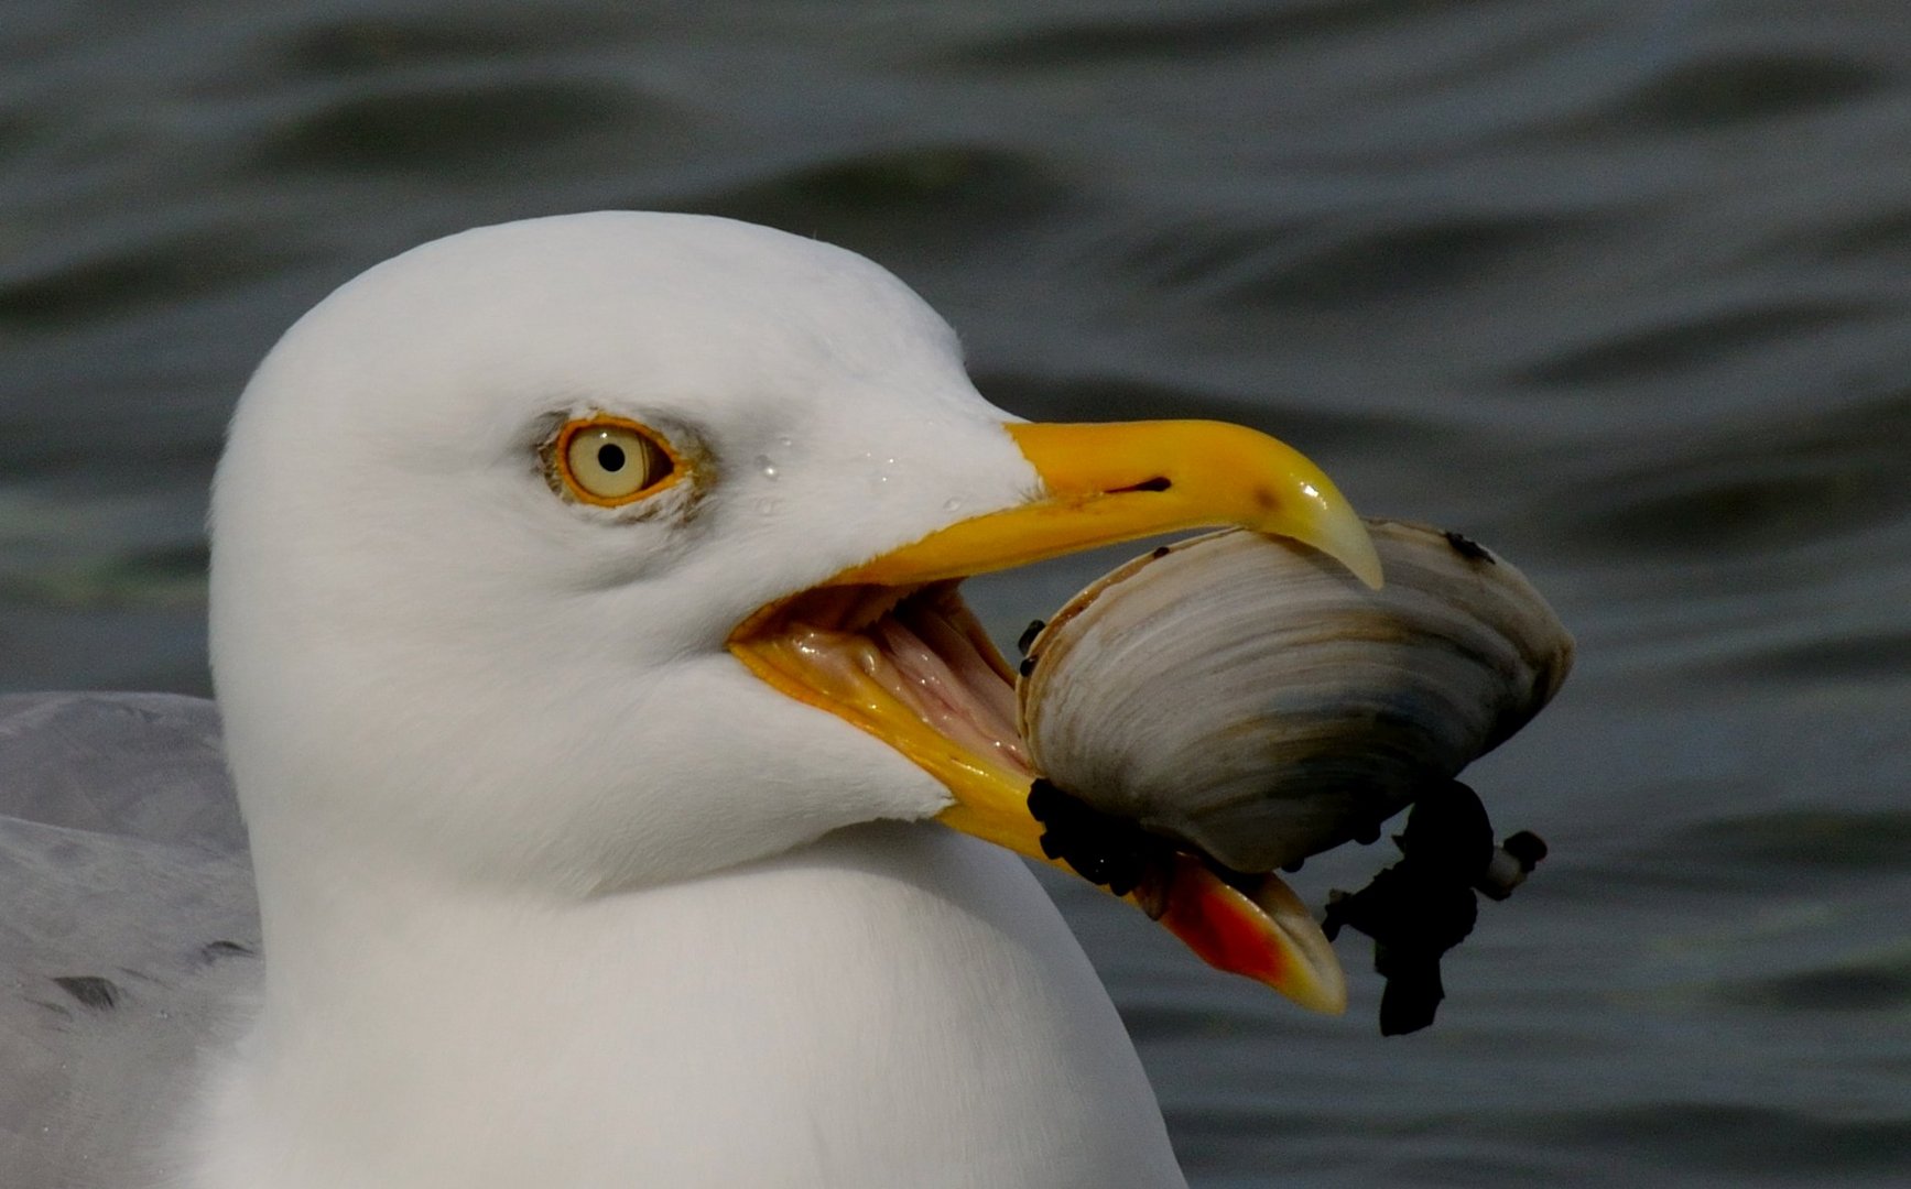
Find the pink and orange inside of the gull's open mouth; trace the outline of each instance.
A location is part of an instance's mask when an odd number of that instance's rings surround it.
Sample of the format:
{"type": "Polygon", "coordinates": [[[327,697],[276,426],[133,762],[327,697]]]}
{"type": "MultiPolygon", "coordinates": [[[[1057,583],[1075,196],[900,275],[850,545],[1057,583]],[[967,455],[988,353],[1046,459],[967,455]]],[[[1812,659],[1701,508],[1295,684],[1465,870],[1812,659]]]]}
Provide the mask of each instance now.
{"type": "Polygon", "coordinates": [[[956,591],[818,587],[762,608],[730,650],[784,694],[862,726],[931,774],[1022,789],[1015,671],[956,591]],[[959,772],[950,772],[956,768],[959,772]]]}

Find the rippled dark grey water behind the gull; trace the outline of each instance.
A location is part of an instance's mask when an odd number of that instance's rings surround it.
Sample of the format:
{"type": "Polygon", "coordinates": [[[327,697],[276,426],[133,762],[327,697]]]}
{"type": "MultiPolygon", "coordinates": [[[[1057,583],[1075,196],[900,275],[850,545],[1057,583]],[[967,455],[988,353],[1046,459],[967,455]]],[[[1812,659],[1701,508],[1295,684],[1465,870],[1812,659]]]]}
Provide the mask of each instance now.
{"type": "Polygon", "coordinates": [[[999,403],[1278,432],[1580,637],[1475,768],[1554,856],[1426,1034],[1057,883],[1198,1185],[1911,1179],[1898,0],[19,0],[0,161],[0,688],[204,690],[222,422],[357,270],[594,206],[814,233],[999,403]]]}

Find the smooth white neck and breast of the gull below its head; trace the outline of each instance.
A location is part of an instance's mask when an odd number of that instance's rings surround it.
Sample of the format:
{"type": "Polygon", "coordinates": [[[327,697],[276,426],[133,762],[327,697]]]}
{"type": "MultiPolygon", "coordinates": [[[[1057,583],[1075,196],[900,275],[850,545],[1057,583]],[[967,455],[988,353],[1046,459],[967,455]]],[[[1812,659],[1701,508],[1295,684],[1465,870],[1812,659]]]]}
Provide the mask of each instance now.
{"type": "Polygon", "coordinates": [[[1047,897],[938,826],[564,902],[256,856],[199,1189],[1183,1183],[1047,897]]]}

